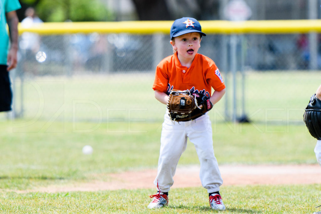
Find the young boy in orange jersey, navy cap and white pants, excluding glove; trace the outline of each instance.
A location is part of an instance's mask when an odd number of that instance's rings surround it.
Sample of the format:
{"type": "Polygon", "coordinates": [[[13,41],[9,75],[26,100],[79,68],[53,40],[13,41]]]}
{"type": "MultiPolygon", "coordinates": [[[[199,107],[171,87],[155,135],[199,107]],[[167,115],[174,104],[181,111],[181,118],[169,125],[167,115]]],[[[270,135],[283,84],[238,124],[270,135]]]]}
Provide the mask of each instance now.
{"type": "MultiPolygon", "coordinates": [[[[198,98],[209,99],[213,105],[223,97],[225,85],[219,69],[213,60],[197,53],[202,36],[206,34],[194,18],[183,17],[172,24],[170,44],[174,54],[158,64],[152,87],[155,98],[161,103],[167,104],[172,89],[188,89],[198,98]],[[213,94],[212,87],[215,90],[213,94]]],[[[150,196],[155,198],[148,208],[161,208],[168,204],[168,192],[174,183],[178,160],[186,149],[187,137],[195,145],[200,160],[200,179],[209,193],[211,208],[225,210],[219,193],[223,181],[214,156],[212,125],[208,114],[192,121],[174,122],[169,118],[168,111],[164,116],[158,172],[154,181],[158,192],[150,196]]]]}

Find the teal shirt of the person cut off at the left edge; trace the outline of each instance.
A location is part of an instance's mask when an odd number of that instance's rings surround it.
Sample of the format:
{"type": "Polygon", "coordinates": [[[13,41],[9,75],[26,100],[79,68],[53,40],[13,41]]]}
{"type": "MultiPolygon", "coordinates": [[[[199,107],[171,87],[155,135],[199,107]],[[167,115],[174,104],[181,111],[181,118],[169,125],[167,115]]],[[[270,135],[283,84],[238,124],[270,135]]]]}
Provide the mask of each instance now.
{"type": "Polygon", "coordinates": [[[21,8],[18,0],[0,0],[0,64],[7,64],[9,35],[5,14],[21,8]]]}

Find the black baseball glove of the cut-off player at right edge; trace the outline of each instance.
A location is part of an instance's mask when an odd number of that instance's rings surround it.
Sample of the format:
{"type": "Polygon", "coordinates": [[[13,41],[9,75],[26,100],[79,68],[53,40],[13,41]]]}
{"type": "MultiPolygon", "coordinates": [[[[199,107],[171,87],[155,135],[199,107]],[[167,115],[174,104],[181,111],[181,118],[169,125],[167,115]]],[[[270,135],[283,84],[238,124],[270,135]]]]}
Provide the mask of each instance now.
{"type": "Polygon", "coordinates": [[[312,95],[308,106],[303,114],[304,123],[310,134],[321,140],[321,100],[316,95],[312,95]]]}

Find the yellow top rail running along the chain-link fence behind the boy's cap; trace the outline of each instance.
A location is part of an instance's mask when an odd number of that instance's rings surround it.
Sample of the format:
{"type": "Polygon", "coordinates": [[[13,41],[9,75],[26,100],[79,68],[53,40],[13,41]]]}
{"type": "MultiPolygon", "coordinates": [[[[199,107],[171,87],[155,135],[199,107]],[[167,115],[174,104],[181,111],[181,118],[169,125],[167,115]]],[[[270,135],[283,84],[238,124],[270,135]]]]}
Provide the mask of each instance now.
{"type": "MultiPolygon", "coordinates": [[[[69,33],[133,33],[169,34],[173,21],[118,22],[45,22],[26,28],[19,24],[19,32],[38,34],[69,33]]],[[[257,20],[257,21],[200,21],[208,34],[291,34],[321,32],[321,20],[257,20]]]]}

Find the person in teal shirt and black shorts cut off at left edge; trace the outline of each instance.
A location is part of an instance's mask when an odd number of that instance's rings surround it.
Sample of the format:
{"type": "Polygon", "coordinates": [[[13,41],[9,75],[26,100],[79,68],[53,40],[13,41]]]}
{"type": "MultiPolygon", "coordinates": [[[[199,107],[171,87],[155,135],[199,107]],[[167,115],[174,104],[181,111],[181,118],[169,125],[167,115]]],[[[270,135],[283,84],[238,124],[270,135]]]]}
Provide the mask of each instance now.
{"type": "Polygon", "coordinates": [[[9,71],[15,68],[18,62],[19,20],[16,10],[20,9],[21,5],[18,0],[0,0],[0,4],[0,111],[10,111],[12,90],[9,71]]]}

